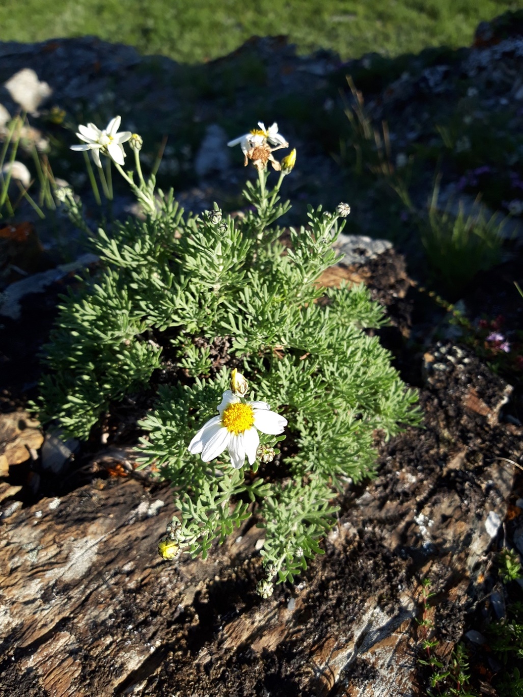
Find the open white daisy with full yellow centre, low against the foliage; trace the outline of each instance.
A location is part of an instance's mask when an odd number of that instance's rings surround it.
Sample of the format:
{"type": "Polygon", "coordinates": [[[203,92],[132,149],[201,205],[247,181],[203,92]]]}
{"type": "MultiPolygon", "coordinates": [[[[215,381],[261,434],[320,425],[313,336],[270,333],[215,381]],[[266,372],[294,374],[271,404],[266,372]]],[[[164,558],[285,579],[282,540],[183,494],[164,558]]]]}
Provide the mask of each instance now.
{"type": "Polygon", "coordinates": [[[244,466],[246,455],[252,465],[260,445],[258,431],[277,436],[287,425],[287,419],[270,411],[267,402],[245,401],[233,395],[231,390],[224,392],[217,408],[219,416],[203,424],[189,443],[189,452],[194,455],[201,453],[204,462],[210,462],[228,450],[235,469],[244,466]]]}

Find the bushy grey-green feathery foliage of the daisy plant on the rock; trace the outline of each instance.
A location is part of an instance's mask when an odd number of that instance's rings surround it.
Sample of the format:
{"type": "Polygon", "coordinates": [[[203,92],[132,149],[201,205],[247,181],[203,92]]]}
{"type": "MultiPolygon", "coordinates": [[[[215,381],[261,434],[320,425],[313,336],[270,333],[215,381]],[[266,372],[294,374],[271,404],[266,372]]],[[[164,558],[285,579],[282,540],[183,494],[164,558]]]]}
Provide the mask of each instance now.
{"type": "MultiPolygon", "coordinates": [[[[285,247],[274,225],[289,208],[279,200],[283,174],[272,190],[267,178],[260,171],[247,186],[255,210],[234,219],[217,206],[183,215],[162,192],[154,209],[142,181],[145,220],[100,229],[102,270],[62,302],[40,398],[41,418],[87,438],[115,401],[155,392],[141,423],[141,465],[172,482],[179,512],[162,549],[205,558],[256,513],[265,595],[272,579],[292,581],[321,551],[336,492],[348,477],[373,474],[376,432],[389,437],[421,417],[416,394],[365,331],[384,324],[383,308],[364,286],[317,283],[335,261],[343,210],[309,207],[308,224],[291,229],[285,247]],[[226,452],[208,463],[187,450],[217,414],[232,367],[249,380],[251,399],[288,422],[284,435],[260,433],[256,462],[240,470],[226,452]]],[[[81,224],[75,199],[63,199],[81,224]]]]}

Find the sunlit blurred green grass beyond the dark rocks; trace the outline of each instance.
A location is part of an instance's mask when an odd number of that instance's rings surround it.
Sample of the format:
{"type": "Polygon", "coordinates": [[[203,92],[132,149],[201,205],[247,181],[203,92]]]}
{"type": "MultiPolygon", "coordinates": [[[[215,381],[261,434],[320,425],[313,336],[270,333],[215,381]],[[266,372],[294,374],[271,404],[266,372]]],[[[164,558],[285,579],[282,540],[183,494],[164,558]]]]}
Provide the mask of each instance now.
{"type": "Polygon", "coordinates": [[[25,0],[22,13],[19,0],[3,0],[0,40],[95,34],[142,54],[196,63],[256,34],[286,34],[301,53],[328,48],[346,60],[469,45],[479,22],[519,8],[523,0],[25,0]]]}

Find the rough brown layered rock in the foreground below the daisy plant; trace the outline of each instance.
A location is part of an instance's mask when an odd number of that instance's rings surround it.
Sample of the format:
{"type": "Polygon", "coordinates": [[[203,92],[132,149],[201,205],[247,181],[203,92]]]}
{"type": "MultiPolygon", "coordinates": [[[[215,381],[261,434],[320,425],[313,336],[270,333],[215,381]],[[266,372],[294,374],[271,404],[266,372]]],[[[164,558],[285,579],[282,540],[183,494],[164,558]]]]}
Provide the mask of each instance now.
{"type": "Polygon", "coordinates": [[[420,583],[449,652],[485,594],[521,447],[498,422],[500,378],[450,345],[425,362],[425,428],[380,444],[379,475],[350,487],[325,556],[269,600],[254,592],[254,526],[205,562],[157,557],[168,489],[91,484],[5,517],[0,694],[423,694],[420,583]]]}

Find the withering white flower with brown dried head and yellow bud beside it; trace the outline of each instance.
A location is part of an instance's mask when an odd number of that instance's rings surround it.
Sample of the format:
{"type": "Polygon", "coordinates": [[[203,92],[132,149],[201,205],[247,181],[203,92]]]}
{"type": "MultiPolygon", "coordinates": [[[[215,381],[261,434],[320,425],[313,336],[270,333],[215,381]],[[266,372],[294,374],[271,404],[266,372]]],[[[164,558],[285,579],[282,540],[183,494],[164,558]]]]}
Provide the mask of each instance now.
{"type": "Polygon", "coordinates": [[[244,164],[247,167],[249,160],[258,171],[267,169],[270,162],[273,169],[281,171],[282,174],[289,174],[296,162],[296,151],[292,150],[290,155],[278,162],[272,153],[280,148],[288,148],[286,139],[278,132],[278,124],[273,123],[269,128],[265,128],[263,121],[258,121],[258,128],[253,128],[245,135],[235,138],[228,142],[229,147],[240,145],[244,154],[244,164]],[[272,146],[272,147],[271,147],[272,146]]]}

